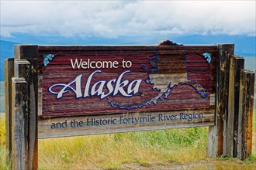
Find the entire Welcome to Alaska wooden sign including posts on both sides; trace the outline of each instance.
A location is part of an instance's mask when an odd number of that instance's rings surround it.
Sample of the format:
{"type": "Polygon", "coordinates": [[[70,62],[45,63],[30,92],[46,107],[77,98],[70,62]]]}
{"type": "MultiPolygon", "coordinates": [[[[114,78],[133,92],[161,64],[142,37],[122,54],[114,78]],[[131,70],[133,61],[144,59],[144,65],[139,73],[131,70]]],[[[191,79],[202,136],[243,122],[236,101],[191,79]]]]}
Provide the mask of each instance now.
{"type": "Polygon", "coordinates": [[[209,126],[208,157],[251,155],[254,76],[234,44],[15,46],[6,151],[36,169],[38,138],[209,126]]]}

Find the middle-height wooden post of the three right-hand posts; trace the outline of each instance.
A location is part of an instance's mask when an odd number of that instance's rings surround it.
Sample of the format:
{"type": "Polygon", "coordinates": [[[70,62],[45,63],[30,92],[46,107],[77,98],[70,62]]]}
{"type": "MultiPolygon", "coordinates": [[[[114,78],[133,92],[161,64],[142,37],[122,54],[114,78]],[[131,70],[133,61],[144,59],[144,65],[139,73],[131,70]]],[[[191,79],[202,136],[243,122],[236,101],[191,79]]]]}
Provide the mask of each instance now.
{"type": "Polygon", "coordinates": [[[237,156],[237,131],[238,131],[238,104],[240,70],[244,69],[244,58],[240,56],[230,57],[230,80],[228,92],[228,119],[226,155],[237,156]]]}

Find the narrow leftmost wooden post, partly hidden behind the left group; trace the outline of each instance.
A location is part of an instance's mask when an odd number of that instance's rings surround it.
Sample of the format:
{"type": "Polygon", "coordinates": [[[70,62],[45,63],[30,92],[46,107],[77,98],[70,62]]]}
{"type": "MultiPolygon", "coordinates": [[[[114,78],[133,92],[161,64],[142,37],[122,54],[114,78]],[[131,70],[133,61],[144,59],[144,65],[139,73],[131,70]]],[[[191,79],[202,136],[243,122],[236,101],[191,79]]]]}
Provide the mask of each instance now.
{"type": "Polygon", "coordinates": [[[5,150],[6,165],[12,158],[12,77],[14,75],[14,59],[5,59],[5,150]]]}

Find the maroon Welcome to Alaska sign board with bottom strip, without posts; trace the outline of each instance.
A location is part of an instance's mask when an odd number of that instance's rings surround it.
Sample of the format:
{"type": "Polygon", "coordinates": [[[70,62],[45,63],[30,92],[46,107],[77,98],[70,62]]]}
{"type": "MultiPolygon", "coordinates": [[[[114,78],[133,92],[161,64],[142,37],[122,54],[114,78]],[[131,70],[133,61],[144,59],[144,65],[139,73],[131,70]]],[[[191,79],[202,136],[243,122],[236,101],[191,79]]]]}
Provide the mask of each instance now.
{"type": "Polygon", "coordinates": [[[40,46],[40,138],[213,125],[216,52],[40,46]]]}

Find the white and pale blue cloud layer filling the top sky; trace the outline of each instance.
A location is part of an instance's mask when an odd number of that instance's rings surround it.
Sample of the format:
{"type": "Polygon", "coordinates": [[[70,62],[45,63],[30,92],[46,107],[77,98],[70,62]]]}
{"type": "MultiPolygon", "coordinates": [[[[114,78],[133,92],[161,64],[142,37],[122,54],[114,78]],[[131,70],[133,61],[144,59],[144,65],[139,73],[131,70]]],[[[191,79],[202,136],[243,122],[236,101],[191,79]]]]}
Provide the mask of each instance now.
{"type": "Polygon", "coordinates": [[[255,1],[1,1],[1,36],[256,36],[255,1]]]}

